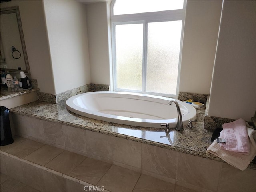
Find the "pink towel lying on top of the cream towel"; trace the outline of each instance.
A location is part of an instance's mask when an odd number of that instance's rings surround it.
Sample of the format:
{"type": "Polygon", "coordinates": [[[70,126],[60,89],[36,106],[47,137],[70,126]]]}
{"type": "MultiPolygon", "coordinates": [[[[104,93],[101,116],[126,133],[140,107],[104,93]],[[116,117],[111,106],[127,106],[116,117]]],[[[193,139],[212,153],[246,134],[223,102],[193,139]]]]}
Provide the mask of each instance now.
{"type": "Polygon", "coordinates": [[[238,119],[231,123],[224,123],[222,128],[220,138],[225,138],[226,143],[220,143],[220,147],[228,151],[248,155],[250,143],[245,120],[238,119]]]}

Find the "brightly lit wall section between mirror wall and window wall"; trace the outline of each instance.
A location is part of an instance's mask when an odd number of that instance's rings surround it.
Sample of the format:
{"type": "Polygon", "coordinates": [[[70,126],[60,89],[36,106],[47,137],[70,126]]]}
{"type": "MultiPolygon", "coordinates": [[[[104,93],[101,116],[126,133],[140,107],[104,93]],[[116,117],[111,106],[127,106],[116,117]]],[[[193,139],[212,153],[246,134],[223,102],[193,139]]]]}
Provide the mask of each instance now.
{"type": "Polygon", "coordinates": [[[89,84],[86,6],[78,1],[44,1],[56,94],[89,84]]]}

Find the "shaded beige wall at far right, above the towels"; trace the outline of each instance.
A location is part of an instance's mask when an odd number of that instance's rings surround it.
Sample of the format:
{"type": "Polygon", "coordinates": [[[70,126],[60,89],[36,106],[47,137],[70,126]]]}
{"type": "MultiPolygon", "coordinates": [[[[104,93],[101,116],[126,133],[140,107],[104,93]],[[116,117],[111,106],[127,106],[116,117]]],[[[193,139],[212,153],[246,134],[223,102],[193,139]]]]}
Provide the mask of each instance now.
{"type": "Polygon", "coordinates": [[[250,120],[256,109],[256,2],[224,1],[208,115],[250,120]]]}

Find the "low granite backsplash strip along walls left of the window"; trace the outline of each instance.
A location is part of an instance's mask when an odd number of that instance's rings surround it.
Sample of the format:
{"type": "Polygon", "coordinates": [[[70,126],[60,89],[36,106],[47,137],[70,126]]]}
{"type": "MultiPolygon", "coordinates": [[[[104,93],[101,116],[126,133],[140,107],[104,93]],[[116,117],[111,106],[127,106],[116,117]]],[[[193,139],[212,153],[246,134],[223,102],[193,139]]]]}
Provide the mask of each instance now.
{"type": "Polygon", "coordinates": [[[38,100],[47,101],[51,103],[58,103],[58,102],[65,101],[68,98],[77,94],[92,92],[92,91],[109,91],[109,89],[110,89],[109,85],[90,83],[90,84],[87,84],[78,88],[74,88],[72,90],[68,90],[59,94],[38,92],[38,100]]]}

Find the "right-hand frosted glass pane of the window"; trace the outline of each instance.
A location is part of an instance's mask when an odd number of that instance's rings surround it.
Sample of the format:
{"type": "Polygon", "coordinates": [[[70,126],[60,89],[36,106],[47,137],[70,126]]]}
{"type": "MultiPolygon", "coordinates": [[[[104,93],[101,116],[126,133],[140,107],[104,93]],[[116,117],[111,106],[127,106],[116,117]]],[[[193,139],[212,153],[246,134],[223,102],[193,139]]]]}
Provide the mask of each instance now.
{"type": "Polygon", "coordinates": [[[182,21],[148,24],[146,91],[176,94],[182,21]]]}

